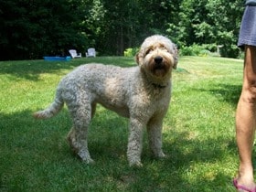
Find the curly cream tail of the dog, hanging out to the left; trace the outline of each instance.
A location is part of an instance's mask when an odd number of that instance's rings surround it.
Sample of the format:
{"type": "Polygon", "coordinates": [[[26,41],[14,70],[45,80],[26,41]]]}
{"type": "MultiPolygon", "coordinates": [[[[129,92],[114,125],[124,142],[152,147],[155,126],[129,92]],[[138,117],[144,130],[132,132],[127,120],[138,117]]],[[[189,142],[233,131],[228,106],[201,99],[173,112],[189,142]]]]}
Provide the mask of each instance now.
{"type": "Polygon", "coordinates": [[[43,111],[34,112],[33,116],[36,119],[48,119],[56,115],[63,108],[64,101],[60,99],[60,95],[57,93],[55,100],[43,111]]]}

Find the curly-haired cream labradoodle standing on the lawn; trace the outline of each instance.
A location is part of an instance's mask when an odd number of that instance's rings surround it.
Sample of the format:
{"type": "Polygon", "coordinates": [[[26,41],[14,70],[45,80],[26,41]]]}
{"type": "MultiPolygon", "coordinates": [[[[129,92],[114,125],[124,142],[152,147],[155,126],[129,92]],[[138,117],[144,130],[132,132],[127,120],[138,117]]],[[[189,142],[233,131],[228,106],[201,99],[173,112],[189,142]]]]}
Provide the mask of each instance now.
{"type": "Polygon", "coordinates": [[[50,118],[65,102],[73,122],[69,144],[84,162],[91,163],[88,128],[96,104],[100,103],[130,119],[127,150],[130,165],[142,165],[144,127],[153,154],[164,157],[162,126],[171,97],[171,73],[177,64],[176,45],[163,36],[147,37],[136,61],[138,66],[133,68],[91,63],[74,69],[59,82],[51,105],[35,112],[34,117],[50,118]]]}

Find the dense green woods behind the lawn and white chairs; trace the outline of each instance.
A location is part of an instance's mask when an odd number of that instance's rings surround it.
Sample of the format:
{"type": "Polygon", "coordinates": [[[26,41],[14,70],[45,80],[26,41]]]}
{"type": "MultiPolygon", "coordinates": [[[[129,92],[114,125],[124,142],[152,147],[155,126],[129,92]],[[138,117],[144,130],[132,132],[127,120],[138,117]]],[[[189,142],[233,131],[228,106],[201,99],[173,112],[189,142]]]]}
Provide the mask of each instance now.
{"type": "Polygon", "coordinates": [[[0,51],[5,59],[84,54],[123,55],[144,37],[162,34],[179,48],[222,45],[236,58],[243,11],[240,0],[0,0],[0,51]]]}

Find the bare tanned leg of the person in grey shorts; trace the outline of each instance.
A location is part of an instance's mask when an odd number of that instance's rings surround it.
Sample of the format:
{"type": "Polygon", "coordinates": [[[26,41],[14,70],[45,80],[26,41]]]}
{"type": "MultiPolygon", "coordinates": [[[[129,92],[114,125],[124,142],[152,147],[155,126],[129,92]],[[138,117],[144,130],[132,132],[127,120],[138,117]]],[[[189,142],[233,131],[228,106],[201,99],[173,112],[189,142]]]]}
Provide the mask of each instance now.
{"type": "Polygon", "coordinates": [[[240,155],[238,185],[253,189],[251,153],[256,126],[256,47],[245,47],[244,77],[236,113],[236,138],[240,155]]]}

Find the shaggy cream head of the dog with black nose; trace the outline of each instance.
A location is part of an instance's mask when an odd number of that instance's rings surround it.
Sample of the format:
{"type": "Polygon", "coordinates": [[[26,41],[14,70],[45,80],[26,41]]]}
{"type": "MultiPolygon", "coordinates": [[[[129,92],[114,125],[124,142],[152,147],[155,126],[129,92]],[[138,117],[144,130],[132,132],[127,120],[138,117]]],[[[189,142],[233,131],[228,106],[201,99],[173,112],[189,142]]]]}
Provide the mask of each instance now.
{"type": "Polygon", "coordinates": [[[155,77],[163,78],[171,69],[176,69],[176,45],[167,37],[147,37],[136,55],[136,62],[155,77]]]}

